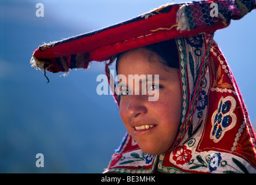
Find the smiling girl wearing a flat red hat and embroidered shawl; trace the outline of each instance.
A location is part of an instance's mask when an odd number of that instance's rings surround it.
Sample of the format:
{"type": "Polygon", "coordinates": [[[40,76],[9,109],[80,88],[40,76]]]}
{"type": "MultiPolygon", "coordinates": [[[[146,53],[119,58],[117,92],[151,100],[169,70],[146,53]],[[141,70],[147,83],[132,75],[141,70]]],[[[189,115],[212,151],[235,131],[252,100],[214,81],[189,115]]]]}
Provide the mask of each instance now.
{"type": "Polygon", "coordinates": [[[116,60],[118,75],[126,79],[158,75],[158,80],[139,79],[140,93],[135,83],[119,79],[114,98],[128,133],[106,173],[256,172],[250,119],[212,39],[215,30],[243,17],[256,3],[214,2],[218,17],[209,14],[212,1],[167,5],[34,52],[33,66],[44,71],[67,72],[109,60],[106,75],[113,83],[108,67],[116,60]],[[150,92],[158,93],[157,101],[149,101],[150,92]]]}

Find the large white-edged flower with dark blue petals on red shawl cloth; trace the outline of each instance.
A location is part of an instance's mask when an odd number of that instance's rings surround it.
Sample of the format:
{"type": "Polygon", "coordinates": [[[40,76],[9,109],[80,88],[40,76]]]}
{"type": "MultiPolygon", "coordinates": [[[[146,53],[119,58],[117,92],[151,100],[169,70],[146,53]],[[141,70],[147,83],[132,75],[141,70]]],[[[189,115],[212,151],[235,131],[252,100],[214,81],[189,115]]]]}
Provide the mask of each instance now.
{"type": "Polygon", "coordinates": [[[236,114],[233,110],[236,107],[236,100],[229,96],[226,98],[221,97],[218,104],[218,109],[212,114],[211,134],[210,138],[215,143],[222,139],[223,135],[229,129],[232,129],[236,124],[236,114]]]}

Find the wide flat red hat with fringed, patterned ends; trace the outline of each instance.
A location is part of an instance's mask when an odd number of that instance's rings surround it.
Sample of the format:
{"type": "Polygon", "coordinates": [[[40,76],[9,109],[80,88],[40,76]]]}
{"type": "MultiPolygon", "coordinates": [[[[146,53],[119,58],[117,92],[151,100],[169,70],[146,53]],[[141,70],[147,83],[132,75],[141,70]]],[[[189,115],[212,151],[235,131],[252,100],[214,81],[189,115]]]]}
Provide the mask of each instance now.
{"type": "Polygon", "coordinates": [[[255,7],[255,1],[167,4],[123,23],[42,45],[34,51],[31,64],[53,73],[88,68],[91,61],[106,61],[137,47],[201,32],[214,33],[255,7]]]}

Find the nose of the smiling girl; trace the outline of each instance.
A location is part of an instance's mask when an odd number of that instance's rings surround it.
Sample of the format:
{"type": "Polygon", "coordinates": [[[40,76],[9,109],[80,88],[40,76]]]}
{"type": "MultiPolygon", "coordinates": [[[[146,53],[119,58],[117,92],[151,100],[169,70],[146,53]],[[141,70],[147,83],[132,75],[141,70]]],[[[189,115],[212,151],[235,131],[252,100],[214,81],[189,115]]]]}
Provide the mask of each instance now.
{"type": "Polygon", "coordinates": [[[127,106],[127,116],[132,118],[146,114],[145,99],[145,95],[131,95],[127,106]]]}

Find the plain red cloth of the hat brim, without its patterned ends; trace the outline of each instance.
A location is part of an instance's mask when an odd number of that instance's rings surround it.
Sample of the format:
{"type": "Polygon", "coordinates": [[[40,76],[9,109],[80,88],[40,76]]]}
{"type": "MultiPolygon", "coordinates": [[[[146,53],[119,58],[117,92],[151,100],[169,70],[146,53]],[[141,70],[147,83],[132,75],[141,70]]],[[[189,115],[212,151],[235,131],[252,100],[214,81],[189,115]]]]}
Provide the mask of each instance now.
{"type": "Polygon", "coordinates": [[[173,39],[186,35],[199,34],[200,32],[215,32],[217,29],[225,28],[227,25],[219,22],[212,27],[193,29],[192,31],[177,31],[176,27],[171,30],[158,28],[171,28],[176,24],[176,13],[181,5],[175,5],[168,13],[160,13],[154,16],[135,21],[118,27],[104,29],[91,36],[80,38],[76,36],[71,41],[49,47],[45,50],[38,48],[34,51],[37,58],[56,58],[70,56],[71,54],[90,54],[90,61],[108,60],[110,56],[141,47],[155,42],[173,39]],[[149,35],[150,34],[150,35],[149,35]],[[142,37],[140,37],[142,36],[142,37]],[[140,38],[138,38],[140,37],[140,38]],[[79,39],[77,39],[79,38],[79,39]]]}

